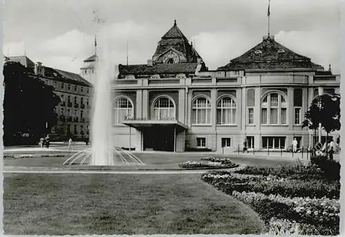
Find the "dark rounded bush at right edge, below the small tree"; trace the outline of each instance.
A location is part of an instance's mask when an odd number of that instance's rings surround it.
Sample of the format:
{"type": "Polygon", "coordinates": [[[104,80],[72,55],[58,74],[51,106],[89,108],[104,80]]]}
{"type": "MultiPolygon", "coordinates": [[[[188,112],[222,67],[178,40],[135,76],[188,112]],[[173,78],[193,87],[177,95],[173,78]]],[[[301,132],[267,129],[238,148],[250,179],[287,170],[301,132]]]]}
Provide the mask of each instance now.
{"type": "Polygon", "coordinates": [[[319,167],[328,180],[340,180],[340,163],[325,156],[311,157],[311,163],[319,167]]]}

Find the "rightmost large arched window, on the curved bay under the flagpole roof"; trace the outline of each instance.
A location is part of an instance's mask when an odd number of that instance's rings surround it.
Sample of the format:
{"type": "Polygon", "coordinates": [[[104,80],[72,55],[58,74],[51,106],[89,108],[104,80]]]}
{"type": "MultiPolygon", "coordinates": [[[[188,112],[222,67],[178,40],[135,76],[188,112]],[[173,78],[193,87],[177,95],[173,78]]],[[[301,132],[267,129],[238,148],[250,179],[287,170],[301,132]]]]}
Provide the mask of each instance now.
{"type": "Polygon", "coordinates": [[[262,124],[286,124],[287,104],[285,96],[272,92],[262,100],[262,124]]]}

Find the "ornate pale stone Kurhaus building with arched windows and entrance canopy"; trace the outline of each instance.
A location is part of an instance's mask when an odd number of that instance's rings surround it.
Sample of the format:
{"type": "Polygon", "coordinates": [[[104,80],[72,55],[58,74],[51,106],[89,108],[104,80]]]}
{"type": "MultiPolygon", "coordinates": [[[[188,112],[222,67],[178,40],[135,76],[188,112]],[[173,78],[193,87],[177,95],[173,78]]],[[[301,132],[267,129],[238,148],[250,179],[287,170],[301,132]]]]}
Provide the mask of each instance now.
{"type": "MultiPolygon", "coordinates": [[[[261,43],[217,70],[177,27],[161,37],[146,64],[119,65],[114,84],[115,145],[135,150],[286,149],[302,130],[315,96],[339,93],[339,75],[325,71],[264,37],[261,43]]],[[[325,133],[326,135],[326,133],[325,133]]],[[[331,136],[338,136],[335,132],[331,136]]]]}

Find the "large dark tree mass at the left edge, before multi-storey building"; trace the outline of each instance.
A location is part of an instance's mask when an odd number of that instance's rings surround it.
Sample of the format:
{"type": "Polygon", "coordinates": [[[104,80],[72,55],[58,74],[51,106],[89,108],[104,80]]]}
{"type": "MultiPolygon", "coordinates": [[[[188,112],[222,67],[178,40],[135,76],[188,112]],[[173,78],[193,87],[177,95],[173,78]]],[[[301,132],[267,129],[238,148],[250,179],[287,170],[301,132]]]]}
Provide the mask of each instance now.
{"type": "Polygon", "coordinates": [[[50,85],[29,74],[20,63],[3,65],[3,143],[36,143],[57,124],[55,107],[61,101],[50,85]],[[48,127],[46,127],[48,123],[48,127]]]}

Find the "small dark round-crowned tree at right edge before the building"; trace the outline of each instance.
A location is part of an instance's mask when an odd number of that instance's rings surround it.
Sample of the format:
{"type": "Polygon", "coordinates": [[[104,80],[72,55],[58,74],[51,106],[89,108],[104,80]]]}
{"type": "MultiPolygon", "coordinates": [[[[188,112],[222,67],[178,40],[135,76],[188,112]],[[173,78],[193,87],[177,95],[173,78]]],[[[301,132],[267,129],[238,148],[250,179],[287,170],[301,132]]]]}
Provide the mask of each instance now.
{"type": "MultiPolygon", "coordinates": [[[[313,99],[311,106],[306,114],[304,114],[302,128],[308,127],[315,131],[321,123],[322,128],[326,131],[326,143],[328,142],[328,134],[330,132],[340,130],[340,95],[339,94],[323,94],[313,99]]],[[[327,149],[327,145],[326,145],[327,149]]]]}

